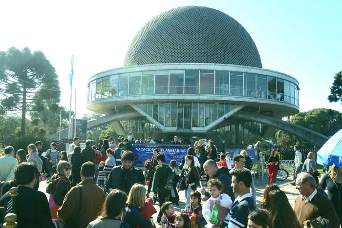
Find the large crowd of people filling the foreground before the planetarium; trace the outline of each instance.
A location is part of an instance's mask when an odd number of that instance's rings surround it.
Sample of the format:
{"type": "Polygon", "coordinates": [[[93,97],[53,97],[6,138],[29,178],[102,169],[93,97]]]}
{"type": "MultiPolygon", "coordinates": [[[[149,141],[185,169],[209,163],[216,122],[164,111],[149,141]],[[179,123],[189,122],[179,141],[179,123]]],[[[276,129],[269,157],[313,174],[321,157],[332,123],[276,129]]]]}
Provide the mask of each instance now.
{"type": "MultiPolygon", "coordinates": [[[[199,140],[180,161],[166,163],[165,154],[154,148],[143,171],[133,166],[133,142],[155,143],[151,138],[135,141],[129,133],[116,142],[107,136],[100,146],[86,141],[83,149],[75,137],[69,150],[61,152],[56,143],[43,151],[39,141],[28,145],[27,153],[7,146],[0,157],[0,222],[11,211],[18,228],[339,228],[342,222],[342,168],[331,166],[318,183],[313,153],[305,160],[297,145],[294,185],[299,195],[292,208],[275,181],[277,149],[268,160],[269,184],[256,204],[253,162],[246,150],[231,157],[230,152],[219,153],[213,140],[199,140]],[[38,191],[43,177],[48,199],[38,191]],[[18,188],[15,198],[11,187],[18,188]],[[180,193],[185,197],[182,208],[180,193]],[[180,213],[175,214],[175,207],[180,213]]],[[[175,136],[169,143],[182,142],[175,136]]]]}

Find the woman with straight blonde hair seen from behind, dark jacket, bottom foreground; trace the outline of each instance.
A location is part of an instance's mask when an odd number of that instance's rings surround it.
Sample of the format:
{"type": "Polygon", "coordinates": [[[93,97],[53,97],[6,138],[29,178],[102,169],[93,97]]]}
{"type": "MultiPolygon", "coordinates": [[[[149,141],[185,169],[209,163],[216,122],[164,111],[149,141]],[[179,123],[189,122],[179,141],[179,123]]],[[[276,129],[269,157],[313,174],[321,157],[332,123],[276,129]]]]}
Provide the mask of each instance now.
{"type": "MultiPolygon", "coordinates": [[[[127,199],[128,209],[126,210],[124,221],[128,223],[131,227],[152,227],[150,220],[145,218],[142,214],[142,209],[145,207],[145,194],[146,189],[141,184],[134,184],[130,188],[127,199]]],[[[151,198],[149,199],[152,200],[151,198]]]]}

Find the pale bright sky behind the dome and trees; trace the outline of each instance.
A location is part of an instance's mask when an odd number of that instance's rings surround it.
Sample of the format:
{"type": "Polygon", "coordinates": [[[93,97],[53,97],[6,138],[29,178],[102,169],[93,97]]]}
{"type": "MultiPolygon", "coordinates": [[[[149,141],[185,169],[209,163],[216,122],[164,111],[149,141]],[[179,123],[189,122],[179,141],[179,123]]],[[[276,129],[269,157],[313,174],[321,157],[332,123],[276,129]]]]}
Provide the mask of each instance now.
{"type": "MultiPolygon", "coordinates": [[[[14,46],[43,51],[59,77],[61,105],[69,107],[68,74],[74,55],[76,117],[86,109],[87,81],[122,67],[135,34],[164,11],[186,5],[220,10],[251,35],[263,68],[295,77],[299,108],[331,108],[334,75],[342,71],[341,0],[1,0],[0,50],[14,46]]],[[[73,101],[72,109],[75,109],[73,101]]]]}

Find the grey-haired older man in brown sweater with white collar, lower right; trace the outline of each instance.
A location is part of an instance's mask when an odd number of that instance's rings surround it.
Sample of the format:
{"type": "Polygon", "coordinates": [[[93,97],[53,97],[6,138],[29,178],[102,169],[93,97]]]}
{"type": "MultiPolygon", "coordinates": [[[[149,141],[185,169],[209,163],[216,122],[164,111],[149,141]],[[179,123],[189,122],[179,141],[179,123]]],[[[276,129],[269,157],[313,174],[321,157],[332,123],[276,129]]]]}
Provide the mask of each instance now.
{"type": "Polygon", "coordinates": [[[316,190],[316,181],[309,173],[300,173],[296,179],[300,195],[295,201],[295,213],[299,223],[317,219],[329,228],[340,228],[340,220],[329,199],[316,190]]]}

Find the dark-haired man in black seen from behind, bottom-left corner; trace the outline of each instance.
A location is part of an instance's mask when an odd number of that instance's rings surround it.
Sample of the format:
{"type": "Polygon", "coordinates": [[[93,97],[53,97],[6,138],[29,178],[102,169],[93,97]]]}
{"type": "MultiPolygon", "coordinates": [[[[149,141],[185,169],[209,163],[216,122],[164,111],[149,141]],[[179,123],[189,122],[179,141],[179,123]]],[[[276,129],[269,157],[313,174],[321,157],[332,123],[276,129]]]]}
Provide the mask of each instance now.
{"type": "MultiPolygon", "coordinates": [[[[18,184],[18,196],[13,202],[18,218],[17,228],[55,228],[45,194],[33,189],[37,179],[38,169],[30,163],[21,163],[14,172],[14,181],[18,184]]],[[[0,206],[5,210],[12,205],[9,193],[0,199],[0,206]]],[[[0,216],[0,223],[2,218],[0,216]]]]}

